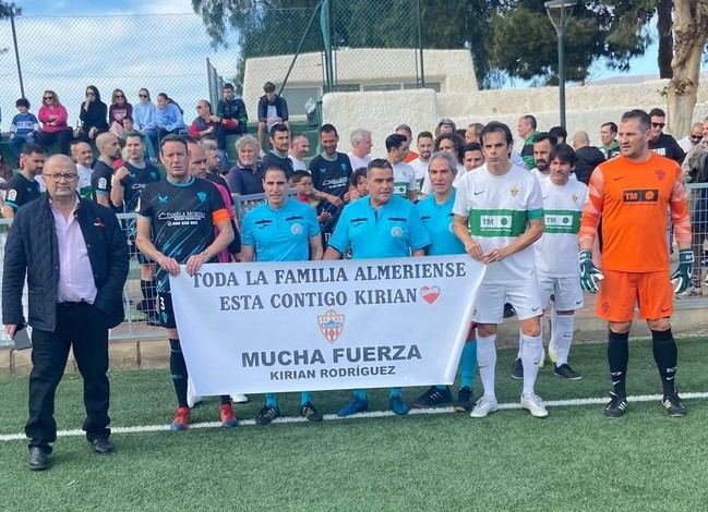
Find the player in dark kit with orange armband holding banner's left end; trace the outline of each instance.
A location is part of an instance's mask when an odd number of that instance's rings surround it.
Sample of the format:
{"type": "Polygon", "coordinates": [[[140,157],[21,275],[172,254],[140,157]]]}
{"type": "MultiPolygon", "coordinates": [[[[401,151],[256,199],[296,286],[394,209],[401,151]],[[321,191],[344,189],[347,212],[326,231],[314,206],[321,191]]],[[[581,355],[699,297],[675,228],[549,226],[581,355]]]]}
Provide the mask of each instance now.
{"type": "MultiPolygon", "coordinates": [[[[160,161],[167,179],[148,184],[137,207],[137,248],[157,264],[157,304],[160,324],[170,344],[170,374],[178,409],[170,428],[184,430],[191,419],[187,401],[187,363],[177,331],[169,276],[187,265],[192,276],[205,263],[216,263],[217,255],[233,240],[229,214],[219,192],[206,180],[189,173],[187,143],[177,135],[160,141],[160,161]],[[215,236],[214,228],[218,230],[215,236]]],[[[231,399],[221,397],[221,426],[237,425],[231,399]]]]}

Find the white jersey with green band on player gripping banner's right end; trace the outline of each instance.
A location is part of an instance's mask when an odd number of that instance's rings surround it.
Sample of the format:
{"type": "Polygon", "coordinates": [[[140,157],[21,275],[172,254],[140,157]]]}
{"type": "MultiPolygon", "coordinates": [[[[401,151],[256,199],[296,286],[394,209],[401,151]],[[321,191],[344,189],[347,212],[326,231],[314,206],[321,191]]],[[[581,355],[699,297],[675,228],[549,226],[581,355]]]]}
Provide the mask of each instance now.
{"type": "MultiPolygon", "coordinates": [[[[484,254],[518,239],[529,220],[543,217],[541,185],[526,169],[512,164],[506,174],[494,175],[487,164],[467,172],[457,184],[455,215],[468,218],[472,240],[484,254]]],[[[531,246],[488,265],[485,283],[525,282],[535,279],[531,246]]]]}

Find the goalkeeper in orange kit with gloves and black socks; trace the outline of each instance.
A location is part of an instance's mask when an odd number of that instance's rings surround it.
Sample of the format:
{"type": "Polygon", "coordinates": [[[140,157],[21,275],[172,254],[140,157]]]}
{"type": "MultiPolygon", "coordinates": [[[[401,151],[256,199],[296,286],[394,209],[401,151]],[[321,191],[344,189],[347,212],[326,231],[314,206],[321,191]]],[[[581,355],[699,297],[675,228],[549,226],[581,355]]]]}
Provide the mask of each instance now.
{"type": "Polygon", "coordinates": [[[592,173],[580,227],[580,284],[591,293],[599,289],[596,314],[609,322],[608,361],[613,391],[604,414],[611,418],[622,416],[628,405],[627,341],[635,305],[639,306],[639,318],[646,319],[651,330],[653,358],[663,388],[661,403],[670,416],[685,415],[675,387],[677,349],[670,318],[674,292],[691,284],[691,220],[681,168],[649,149],[651,130],[650,117],[643,110],[622,115],[622,155],[601,163],[592,173]],[[668,210],[680,251],[679,268],[671,277],[668,210]],[[602,271],[595,266],[591,252],[600,219],[602,271]]]}

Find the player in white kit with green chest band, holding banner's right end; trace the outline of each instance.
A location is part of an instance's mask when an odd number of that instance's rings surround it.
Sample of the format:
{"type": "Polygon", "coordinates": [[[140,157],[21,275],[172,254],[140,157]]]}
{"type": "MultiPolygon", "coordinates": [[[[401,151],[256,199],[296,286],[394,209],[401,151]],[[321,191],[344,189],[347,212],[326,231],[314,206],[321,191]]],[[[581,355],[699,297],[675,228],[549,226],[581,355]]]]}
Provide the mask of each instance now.
{"type": "Polygon", "coordinates": [[[477,300],[477,358],[484,394],[470,413],[484,417],[499,410],[494,390],[497,325],[504,303],[520,322],[524,391],[520,403],[532,416],[548,416],[535,392],[542,353],[541,296],[531,244],[543,234],[543,203],[538,180],[509,160],[512,132],[492,121],[481,133],[485,163],[457,184],[455,234],[472,258],[487,264],[477,300]]]}

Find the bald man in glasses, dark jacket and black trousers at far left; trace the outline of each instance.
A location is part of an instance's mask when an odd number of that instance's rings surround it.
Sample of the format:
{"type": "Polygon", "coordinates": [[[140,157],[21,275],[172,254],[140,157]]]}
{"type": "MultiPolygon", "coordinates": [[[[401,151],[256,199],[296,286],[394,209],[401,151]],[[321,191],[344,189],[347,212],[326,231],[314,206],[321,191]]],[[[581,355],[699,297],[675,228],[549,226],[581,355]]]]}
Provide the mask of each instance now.
{"type": "Polygon", "coordinates": [[[8,233],[2,282],[2,322],[14,338],[25,327],[22,296],[27,277],[33,368],[25,434],[33,471],[49,466],[57,440],[55,392],[70,349],[84,379],[86,439],[96,453],[112,451],[108,329],[123,320],[128,277],[128,244],[118,219],[109,208],[79,197],[79,173],[71,158],[48,158],[44,176],[47,193],[17,210],[8,233]]]}

